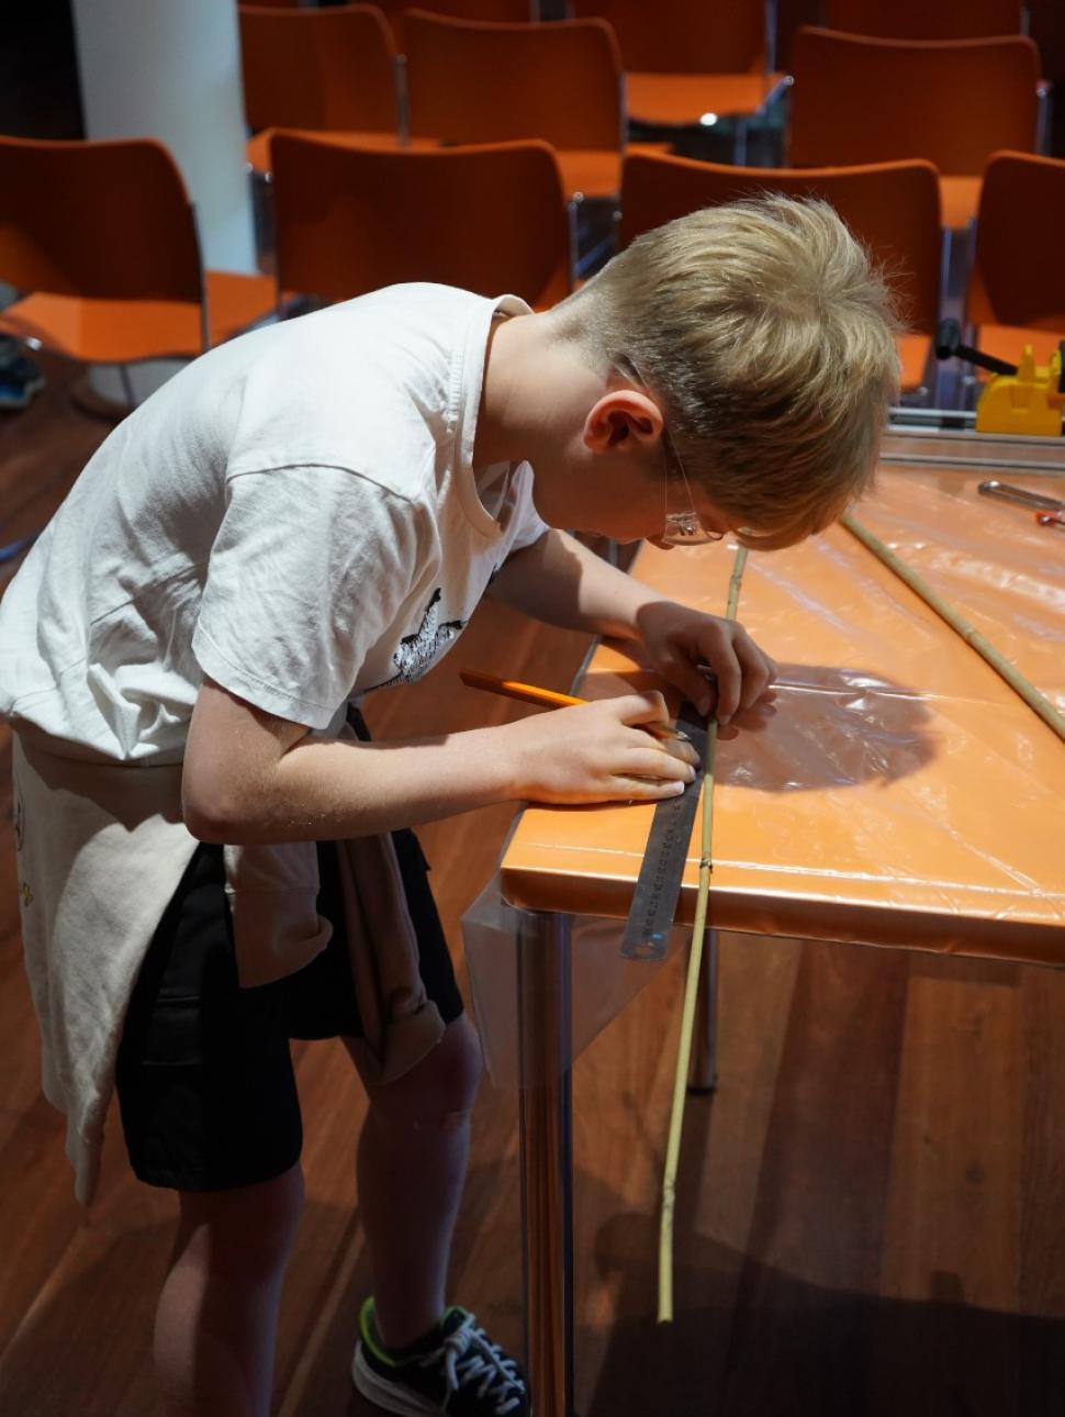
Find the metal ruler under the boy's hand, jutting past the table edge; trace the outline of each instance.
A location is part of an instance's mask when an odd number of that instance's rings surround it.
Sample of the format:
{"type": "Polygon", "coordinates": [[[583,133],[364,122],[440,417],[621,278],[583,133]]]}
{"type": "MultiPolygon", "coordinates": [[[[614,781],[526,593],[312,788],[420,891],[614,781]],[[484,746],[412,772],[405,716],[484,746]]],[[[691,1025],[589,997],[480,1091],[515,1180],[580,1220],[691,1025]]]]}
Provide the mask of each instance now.
{"type": "Polygon", "coordinates": [[[685,703],[677,714],[677,727],[691,738],[691,745],[700,755],[700,768],[680,796],[666,798],[654,808],[643,866],[622,937],[622,955],[626,959],[663,959],[677,913],[680,883],[705,772],[707,724],[695,706],[685,703]]]}

